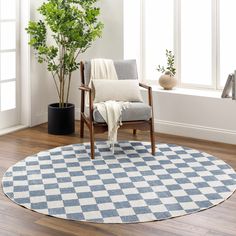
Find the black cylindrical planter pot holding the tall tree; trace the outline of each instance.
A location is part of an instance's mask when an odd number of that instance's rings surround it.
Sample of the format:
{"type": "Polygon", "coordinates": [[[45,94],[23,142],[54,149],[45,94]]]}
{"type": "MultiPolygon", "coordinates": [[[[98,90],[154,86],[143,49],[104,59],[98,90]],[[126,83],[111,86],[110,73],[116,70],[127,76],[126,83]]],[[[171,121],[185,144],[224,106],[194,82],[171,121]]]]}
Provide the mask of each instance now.
{"type": "Polygon", "coordinates": [[[72,134],[75,132],[75,106],[68,103],[60,108],[59,103],[48,105],[48,133],[72,134]]]}

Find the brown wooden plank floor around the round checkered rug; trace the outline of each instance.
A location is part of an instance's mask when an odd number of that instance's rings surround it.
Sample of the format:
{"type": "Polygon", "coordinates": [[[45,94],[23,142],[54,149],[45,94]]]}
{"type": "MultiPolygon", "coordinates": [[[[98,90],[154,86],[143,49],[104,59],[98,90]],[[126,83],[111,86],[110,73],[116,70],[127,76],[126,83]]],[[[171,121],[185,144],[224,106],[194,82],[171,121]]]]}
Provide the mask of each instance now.
{"type": "MultiPolygon", "coordinates": [[[[0,176],[6,169],[24,157],[49,148],[88,141],[79,138],[78,123],[75,135],[47,134],[46,124],[0,137],[0,176]]],[[[97,139],[106,139],[97,135],[97,139]]],[[[148,140],[146,133],[120,131],[120,140],[148,140]]],[[[223,159],[236,169],[236,146],[156,134],[157,142],[175,143],[208,152],[223,159]]],[[[192,215],[164,221],[139,224],[92,224],[48,217],[24,209],[11,202],[1,191],[0,236],[8,235],[160,235],[160,236],[236,236],[236,193],[224,203],[192,215]]]]}

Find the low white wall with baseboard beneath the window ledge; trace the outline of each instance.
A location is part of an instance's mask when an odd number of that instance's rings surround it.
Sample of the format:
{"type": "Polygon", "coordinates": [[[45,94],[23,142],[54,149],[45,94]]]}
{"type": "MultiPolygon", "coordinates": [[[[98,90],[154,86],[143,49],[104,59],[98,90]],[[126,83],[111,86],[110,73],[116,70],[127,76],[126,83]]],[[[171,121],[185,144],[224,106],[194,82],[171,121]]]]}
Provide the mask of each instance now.
{"type": "Polygon", "coordinates": [[[156,132],[236,144],[236,101],[182,91],[153,91],[156,132]]]}

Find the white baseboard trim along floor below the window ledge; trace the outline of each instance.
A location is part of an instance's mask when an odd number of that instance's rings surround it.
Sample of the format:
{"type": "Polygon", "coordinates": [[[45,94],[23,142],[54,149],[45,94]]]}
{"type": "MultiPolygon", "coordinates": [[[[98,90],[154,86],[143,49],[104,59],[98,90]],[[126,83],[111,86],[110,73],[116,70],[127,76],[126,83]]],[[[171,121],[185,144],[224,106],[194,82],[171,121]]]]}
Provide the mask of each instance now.
{"type": "Polygon", "coordinates": [[[236,131],[157,119],[154,124],[159,133],[236,144],[236,131]]]}

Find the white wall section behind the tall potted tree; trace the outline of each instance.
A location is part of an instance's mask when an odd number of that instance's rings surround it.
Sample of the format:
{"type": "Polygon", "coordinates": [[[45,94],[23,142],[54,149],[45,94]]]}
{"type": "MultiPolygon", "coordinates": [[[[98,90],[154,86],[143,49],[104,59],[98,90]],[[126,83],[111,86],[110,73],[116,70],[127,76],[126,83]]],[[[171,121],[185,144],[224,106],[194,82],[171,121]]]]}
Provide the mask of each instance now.
{"type": "MultiPolygon", "coordinates": [[[[36,9],[43,0],[30,1],[30,18],[38,19],[36,9]]],[[[96,57],[122,59],[123,58],[123,0],[101,0],[98,4],[101,8],[100,19],[104,23],[102,38],[81,55],[79,60],[96,57]]],[[[31,82],[31,122],[34,126],[47,121],[47,105],[57,102],[56,90],[53,80],[46,70],[46,66],[38,64],[33,51],[30,53],[30,82],[31,82]]],[[[80,85],[79,72],[75,72],[71,84],[70,102],[75,103],[76,117],[80,104],[78,87],[80,85]]]]}

